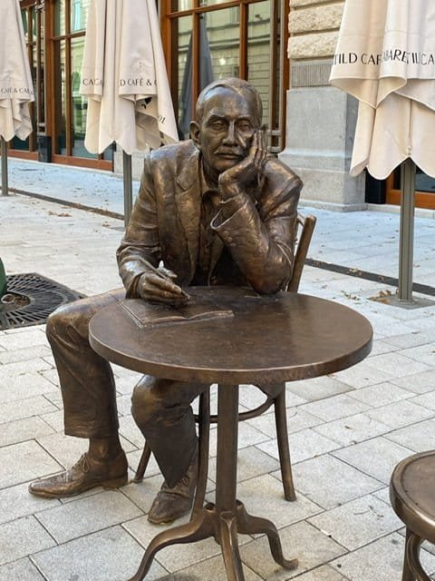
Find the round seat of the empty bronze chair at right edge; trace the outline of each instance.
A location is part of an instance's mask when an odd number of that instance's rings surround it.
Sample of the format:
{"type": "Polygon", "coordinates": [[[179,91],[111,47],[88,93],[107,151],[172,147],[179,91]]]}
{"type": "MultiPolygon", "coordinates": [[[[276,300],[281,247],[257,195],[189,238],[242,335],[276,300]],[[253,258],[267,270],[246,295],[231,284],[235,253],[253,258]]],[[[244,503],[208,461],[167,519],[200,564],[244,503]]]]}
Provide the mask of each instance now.
{"type": "Polygon", "coordinates": [[[435,544],[435,450],[405,458],[394,468],[390,499],[401,521],[435,544]]]}

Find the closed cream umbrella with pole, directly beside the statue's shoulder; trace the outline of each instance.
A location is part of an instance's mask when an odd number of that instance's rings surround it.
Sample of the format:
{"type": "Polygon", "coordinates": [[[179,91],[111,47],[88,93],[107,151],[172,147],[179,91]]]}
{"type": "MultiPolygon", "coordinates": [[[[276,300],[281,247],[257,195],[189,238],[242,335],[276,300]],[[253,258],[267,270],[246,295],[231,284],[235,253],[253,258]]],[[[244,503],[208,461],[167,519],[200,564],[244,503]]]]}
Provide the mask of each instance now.
{"type": "Polygon", "coordinates": [[[122,148],[127,224],[131,153],[178,141],[155,0],[92,0],[81,94],[88,97],[86,149],[122,148]]]}

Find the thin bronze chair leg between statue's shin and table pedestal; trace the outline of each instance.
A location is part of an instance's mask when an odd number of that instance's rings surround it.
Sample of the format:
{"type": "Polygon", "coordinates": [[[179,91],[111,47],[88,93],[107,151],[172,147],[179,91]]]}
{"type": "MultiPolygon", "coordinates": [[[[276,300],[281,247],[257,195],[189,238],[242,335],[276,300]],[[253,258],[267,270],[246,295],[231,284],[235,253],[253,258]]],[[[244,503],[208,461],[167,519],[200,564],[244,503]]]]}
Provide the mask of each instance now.
{"type": "Polygon", "coordinates": [[[210,440],[210,388],[203,391],[199,396],[198,411],[198,483],[190,520],[192,520],[198,514],[198,511],[204,506],[204,498],[206,497],[208,450],[210,440]]]}

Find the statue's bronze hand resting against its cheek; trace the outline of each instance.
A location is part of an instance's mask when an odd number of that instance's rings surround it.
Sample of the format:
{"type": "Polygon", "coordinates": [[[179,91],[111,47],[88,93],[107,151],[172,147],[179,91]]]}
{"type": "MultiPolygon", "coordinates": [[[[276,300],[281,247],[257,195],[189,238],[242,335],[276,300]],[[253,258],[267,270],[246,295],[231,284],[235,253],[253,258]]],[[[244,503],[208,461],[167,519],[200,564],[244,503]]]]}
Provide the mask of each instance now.
{"type": "Polygon", "coordinates": [[[226,172],[219,175],[219,192],[222,200],[228,200],[239,192],[238,186],[245,183],[260,183],[263,179],[263,167],[266,162],[267,148],[265,130],[260,129],[252,136],[247,157],[226,172]]]}

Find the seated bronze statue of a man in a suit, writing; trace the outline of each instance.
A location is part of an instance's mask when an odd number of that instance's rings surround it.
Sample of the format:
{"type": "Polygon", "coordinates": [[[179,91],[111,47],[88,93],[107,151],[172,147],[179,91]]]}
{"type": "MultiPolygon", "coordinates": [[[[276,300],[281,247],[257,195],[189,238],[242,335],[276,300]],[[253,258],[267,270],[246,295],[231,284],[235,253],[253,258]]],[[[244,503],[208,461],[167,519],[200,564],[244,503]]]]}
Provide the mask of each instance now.
{"type": "MultiPolygon", "coordinates": [[[[302,182],[266,153],[256,89],[237,78],[209,84],[198,97],[196,118],[191,140],[145,159],[117,251],[125,290],[75,301],[47,321],[65,434],[89,438],[89,449],[73,468],[32,483],[35,495],[69,497],[127,482],[111,367],[89,345],[96,310],[124,296],[177,306],[187,300],[189,285],[240,285],[270,294],[292,276],[302,182]]],[[[207,387],[144,376],[133,391],[133,418],[165,478],[150,522],[189,512],[198,470],[190,403],[207,387]]]]}

